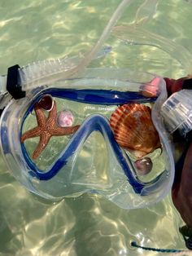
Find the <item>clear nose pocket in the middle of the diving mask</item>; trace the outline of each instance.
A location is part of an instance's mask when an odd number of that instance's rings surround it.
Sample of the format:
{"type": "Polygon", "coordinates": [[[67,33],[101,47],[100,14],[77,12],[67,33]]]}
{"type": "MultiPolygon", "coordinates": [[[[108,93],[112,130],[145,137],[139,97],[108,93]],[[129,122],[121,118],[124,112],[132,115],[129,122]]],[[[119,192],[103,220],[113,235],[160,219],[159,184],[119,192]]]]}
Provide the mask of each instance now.
{"type": "Polygon", "coordinates": [[[90,191],[111,188],[111,153],[106,140],[98,131],[93,131],[72,161],[72,185],[89,188],[90,191]],[[78,171],[76,171],[78,170],[78,171]]]}

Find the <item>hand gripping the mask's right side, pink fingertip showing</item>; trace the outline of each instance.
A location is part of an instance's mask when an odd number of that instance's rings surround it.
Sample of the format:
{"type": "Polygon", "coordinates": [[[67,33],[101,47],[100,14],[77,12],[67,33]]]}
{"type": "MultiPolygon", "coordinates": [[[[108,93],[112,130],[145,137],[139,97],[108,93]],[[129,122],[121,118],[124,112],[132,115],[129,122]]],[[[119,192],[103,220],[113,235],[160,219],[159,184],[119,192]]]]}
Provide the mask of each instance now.
{"type": "MultiPolygon", "coordinates": [[[[168,96],[185,88],[192,89],[190,76],[178,80],[166,77],[164,80],[168,96]]],[[[142,95],[156,97],[159,93],[158,87],[159,80],[155,78],[150,83],[142,86],[142,90],[145,91],[142,95]]],[[[174,136],[173,134],[173,138],[174,136]]],[[[172,202],[186,223],[186,226],[180,228],[180,232],[185,239],[185,245],[188,249],[192,249],[192,131],[188,133],[186,144],[180,161],[176,163],[175,179],[172,185],[172,202]]]]}

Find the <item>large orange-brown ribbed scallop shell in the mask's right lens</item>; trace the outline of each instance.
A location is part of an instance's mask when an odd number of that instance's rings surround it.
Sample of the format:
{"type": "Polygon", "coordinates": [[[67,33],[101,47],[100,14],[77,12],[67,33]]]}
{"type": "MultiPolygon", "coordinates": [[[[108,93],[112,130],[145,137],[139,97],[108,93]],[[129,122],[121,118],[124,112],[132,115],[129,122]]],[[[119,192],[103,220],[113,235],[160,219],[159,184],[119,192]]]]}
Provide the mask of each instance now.
{"type": "Polygon", "coordinates": [[[160,148],[159,135],[151,119],[151,108],[143,104],[124,104],[111,114],[110,126],[121,148],[137,158],[160,148]]]}

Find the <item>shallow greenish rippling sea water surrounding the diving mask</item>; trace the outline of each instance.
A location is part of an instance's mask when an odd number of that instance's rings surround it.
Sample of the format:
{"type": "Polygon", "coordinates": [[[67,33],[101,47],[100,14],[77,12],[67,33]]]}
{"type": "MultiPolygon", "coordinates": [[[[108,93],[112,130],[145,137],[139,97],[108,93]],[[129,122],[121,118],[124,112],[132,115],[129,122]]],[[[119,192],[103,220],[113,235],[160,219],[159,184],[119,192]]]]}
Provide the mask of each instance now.
{"type": "MultiPolygon", "coordinates": [[[[13,64],[89,51],[119,2],[0,0],[1,73],[13,64]]],[[[143,2],[135,0],[118,24],[139,20],[136,13],[143,2]]],[[[192,51],[191,12],[190,1],[162,0],[143,26],[192,51]]],[[[154,46],[129,45],[115,36],[106,45],[112,46],[111,54],[92,66],[132,68],[162,77],[186,75],[182,64],[154,46]]],[[[159,255],[132,248],[133,240],[143,246],[185,249],[178,232],[183,223],[170,195],[142,210],[122,210],[89,194],[46,201],[21,187],[2,157],[0,166],[0,255],[159,255]]]]}

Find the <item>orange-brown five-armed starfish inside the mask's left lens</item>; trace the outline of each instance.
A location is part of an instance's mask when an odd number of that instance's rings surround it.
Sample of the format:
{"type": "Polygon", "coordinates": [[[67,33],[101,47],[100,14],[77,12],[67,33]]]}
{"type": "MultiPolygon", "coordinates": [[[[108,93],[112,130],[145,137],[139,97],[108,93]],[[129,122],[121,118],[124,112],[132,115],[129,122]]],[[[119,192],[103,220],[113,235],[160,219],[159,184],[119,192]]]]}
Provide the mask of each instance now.
{"type": "Polygon", "coordinates": [[[79,126],[59,127],[57,125],[57,108],[55,101],[48,117],[45,116],[43,109],[38,105],[38,103],[35,104],[34,110],[37,118],[37,127],[26,131],[21,136],[20,141],[21,143],[24,143],[25,139],[34,138],[37,136],[40,137],[37,148],[33,152],[32,156],[33,159],[37,159],[41,152],[46,148],[52,136],[71,135],[76,132],[79,126]]]}

